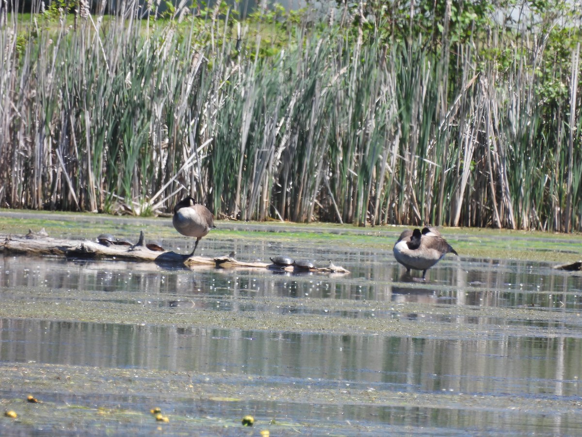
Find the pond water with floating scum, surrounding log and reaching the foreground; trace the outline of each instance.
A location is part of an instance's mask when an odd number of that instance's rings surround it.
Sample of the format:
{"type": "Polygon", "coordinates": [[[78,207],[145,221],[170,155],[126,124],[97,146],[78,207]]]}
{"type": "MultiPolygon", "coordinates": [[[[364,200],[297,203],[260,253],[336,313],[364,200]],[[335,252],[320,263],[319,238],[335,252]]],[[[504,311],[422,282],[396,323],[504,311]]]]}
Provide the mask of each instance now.
{"type": "Polygon", "coordinates": [[[582,432],[579,274],[461,254],[419,281],[393,238],[363,249],[282,237],[199,247],[351,273],[0,255],[0,402],[19,414],[0,434],[582,432]]]}

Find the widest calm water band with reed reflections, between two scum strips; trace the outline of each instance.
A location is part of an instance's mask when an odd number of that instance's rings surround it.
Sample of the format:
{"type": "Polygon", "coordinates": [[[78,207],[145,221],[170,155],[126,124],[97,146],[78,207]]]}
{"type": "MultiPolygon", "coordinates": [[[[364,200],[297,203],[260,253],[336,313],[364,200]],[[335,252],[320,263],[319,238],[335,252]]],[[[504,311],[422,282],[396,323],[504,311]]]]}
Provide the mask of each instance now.
{"type": "Polygon", "coordinates": [[[269,333],[0,320],[2,360],[294,378],[356,389],[580,396],[582,339],[269,333]]]}

